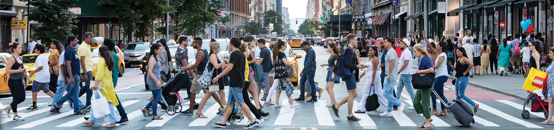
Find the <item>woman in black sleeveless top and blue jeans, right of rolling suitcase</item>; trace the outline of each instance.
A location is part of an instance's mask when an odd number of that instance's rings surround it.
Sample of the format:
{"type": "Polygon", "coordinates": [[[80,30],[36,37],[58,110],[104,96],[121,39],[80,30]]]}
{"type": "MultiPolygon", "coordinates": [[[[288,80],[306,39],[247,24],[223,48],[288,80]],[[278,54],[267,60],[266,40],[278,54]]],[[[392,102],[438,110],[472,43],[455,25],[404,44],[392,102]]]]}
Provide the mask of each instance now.
{"type": "Polygon", "coordinates": [[[463,47],[459,47],[456,50],[456,57],[458,57],[456,66],[453,66],[452,63],[448,63],[450,67],[456,70],[456,99],[464,99],[466,102],[471,104],[471,106],[473,106],[473,112],[477,113],[479,104],[475,104],[475,102],[465,96],[465,88],[468,87],[469,83],[469,71],[471,70],[471,67],[473,67],[473,63],[469,61],[468,54],[465,53],[465,49],[463,47]]]}

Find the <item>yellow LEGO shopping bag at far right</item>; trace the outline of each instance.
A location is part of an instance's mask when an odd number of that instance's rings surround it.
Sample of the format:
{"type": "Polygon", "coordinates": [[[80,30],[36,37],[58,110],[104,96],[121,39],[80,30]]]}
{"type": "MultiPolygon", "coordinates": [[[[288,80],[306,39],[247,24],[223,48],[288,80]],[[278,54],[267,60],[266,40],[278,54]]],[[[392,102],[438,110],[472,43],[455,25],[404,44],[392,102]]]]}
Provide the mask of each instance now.
{"type": "Polygon", "coordinates": [[[522,88],[531,92],[535,91],[535,89],[542,89],[542,87],[546,84],[546,76],[546,72],[539,71],[536,68],[531,68],[531,71],[529,71],[522,88]]]}

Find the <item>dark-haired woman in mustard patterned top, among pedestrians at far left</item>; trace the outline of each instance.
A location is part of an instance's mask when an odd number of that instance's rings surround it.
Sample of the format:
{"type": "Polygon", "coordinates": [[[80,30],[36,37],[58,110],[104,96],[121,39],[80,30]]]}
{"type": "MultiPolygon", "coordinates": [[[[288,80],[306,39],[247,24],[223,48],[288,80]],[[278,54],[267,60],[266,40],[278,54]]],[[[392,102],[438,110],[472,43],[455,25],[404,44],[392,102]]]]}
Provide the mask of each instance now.
{"type": "Polygon", "coordinates": [[[60,66],[58,65],[58,58],[60,57],[61,53],[61,46],[60,41],[53,40],[52,43],[50,43],[50,48],[53,49],[52,52],[50,52],[50,56],[48,57],[48,70],[50,71],[50,83],[49,88],[50,91],[53,93],[56,93],[58,90],[58,76],[60,75],[60,66]]]}

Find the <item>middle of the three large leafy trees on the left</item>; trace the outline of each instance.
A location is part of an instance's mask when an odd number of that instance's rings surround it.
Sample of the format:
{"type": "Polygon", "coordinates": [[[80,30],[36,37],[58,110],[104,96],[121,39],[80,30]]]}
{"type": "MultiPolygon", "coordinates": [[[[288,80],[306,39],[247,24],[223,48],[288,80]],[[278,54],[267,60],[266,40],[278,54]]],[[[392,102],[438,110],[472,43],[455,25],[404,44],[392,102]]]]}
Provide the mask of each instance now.
{"type": "Polygon", "coordinates": [[[124,29],[129,39],[132,32],[135,32],[135,37],[142,39],[153,36],[153,21],[165,17],[165,12],[170,10],[167,0],[100,0],[98,4],[112,8],[108,16],[118,19],[118,25],[124,29]]]}

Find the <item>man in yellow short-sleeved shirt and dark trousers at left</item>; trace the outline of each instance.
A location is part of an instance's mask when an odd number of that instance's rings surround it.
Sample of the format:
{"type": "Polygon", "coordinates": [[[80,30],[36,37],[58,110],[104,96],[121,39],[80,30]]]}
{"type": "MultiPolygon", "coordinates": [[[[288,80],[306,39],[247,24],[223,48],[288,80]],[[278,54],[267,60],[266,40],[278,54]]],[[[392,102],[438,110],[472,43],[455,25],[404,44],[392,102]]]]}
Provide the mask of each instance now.
{"type": "Polygon", "coordinates": [[[90,81],[93,80],[93,57],[90,54],[90,43],[93,41],[94,34],[85,32],[84,37],[83,43],[81,43],[81,46],[77,49],[77,55],[81,63],[81,77],[83,77],[83,80],[79,83],[81,86],[79,97],[83,96],[86,92],[86,104],[81,111],[90,108],[90,98],[93,97],[93,90],[90,89],[89,86],[90,81]],[[85,82],[85,86],[82,85],[83,82],[85,82]]]}

